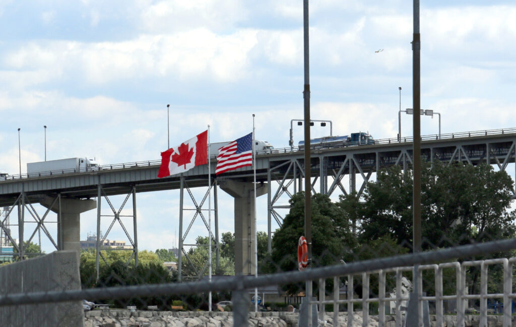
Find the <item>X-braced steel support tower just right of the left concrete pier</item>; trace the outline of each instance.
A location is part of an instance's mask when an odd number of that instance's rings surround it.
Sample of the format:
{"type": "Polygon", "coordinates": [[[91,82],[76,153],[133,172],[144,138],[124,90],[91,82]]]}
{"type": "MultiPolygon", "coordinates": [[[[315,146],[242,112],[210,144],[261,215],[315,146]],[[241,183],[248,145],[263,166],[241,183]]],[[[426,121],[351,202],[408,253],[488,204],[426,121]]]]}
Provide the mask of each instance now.
{"type": "MultiPolygon", "coordinates": [[[[130,188],[130,191],[127,193],[124,201],[120,205],[120,208],[117,210],[109,200],[108,195],[104,191],[104,188],[102,187],[102,184],[99,183],[99,189],[98,189],[98,197],[97,197],[97,235],[96,235],[96,245],[95,245],[95,252],[96,252],[96,275],[97,279],[99,279],[99,272],[100,272],[100,258],[104,260],[104,262],[107,264],[107,260],[104,257],[104,255],[101,252],[102,244],[104,244],[104,241],[107,239],[107,236],[109,235],[109,232],[111,232],[112,227],[115,225],[116,222],[119,223],[120,227],[122,227],[122,230],[125,233],[125,236],[131,243],[131,246],[133,247],[133,251],[131,253],[131,256],[127,259],[126,265],[128,265],[131,260],[134,258],[135,260],[135,266],[138,267],[138,234],[137,234],[137,226],[136,226],[136,186],[132,185],[130,188]],[[122,212],[122,209],[127,204],[127,200],[132,195],[133,200],[133,215],[120,215],[120,212],[122,212]],[[101,215],[101,204],[102,204],[102,197],[106,200],[106,202],[109,205],[109,208],[112,211],[112,215],[101,215]],[[109,227],[107,228],[106,233],[104,233],[102,239],[100,238],[100,224],[101,224],[101,217],[113,217],[111,220],[111,223],[109,224],[109,227]],[[125,227],[123,221],[120,219],[120,217],[132,217],[133,218],[133,234],[134,239],[131,237],[130,233],[127,231],[127,228],[125,227]]],[[[106,248],[104,250],[109,250],[109,248],[106,248]]]]}

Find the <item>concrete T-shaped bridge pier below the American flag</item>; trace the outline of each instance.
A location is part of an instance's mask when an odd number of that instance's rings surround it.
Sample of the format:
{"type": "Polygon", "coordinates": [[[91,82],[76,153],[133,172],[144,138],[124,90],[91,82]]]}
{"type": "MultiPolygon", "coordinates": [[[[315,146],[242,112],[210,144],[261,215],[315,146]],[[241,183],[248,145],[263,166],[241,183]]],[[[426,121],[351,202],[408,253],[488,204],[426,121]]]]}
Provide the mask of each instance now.
{"type": "MultiPolygon", "coordinates": [[[[254,185],[228,180],[219,186],[235,198],[235,274],[254,274],[254,185]]],[[[268,184],[256,185],[256,197],[267,190],[268,184]]]]}

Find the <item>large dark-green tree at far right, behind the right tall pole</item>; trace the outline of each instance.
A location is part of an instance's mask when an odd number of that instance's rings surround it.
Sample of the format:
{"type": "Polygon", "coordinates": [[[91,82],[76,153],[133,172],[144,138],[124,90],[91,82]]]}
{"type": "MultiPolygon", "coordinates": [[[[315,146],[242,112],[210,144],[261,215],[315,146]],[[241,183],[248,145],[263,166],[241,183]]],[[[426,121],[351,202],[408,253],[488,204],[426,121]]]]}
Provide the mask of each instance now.
{"type": "MultiPolygon", "coordinates": [[[[513,182],[505,171],[495,172],[489,165],[447,166],[437,160],[422,168],[423,250],[514,237],[516,214],[510,210],[513,182]]],[[[340,203],[348,215],[360,221],[363,247],[380,249],[373,242],[389,236],[398,246],[411,249],[412,172],[403,172],[399,166],[380,171],[376,181],[367,184],[363,200],[357,206],[357,199],[343,197],[340,203]]],[[[378,256],[385,254],[376,251],[378,256]]],[[[475,293],[478,269],[470,268],[467,277],[470,293],[475,293]]]]}

